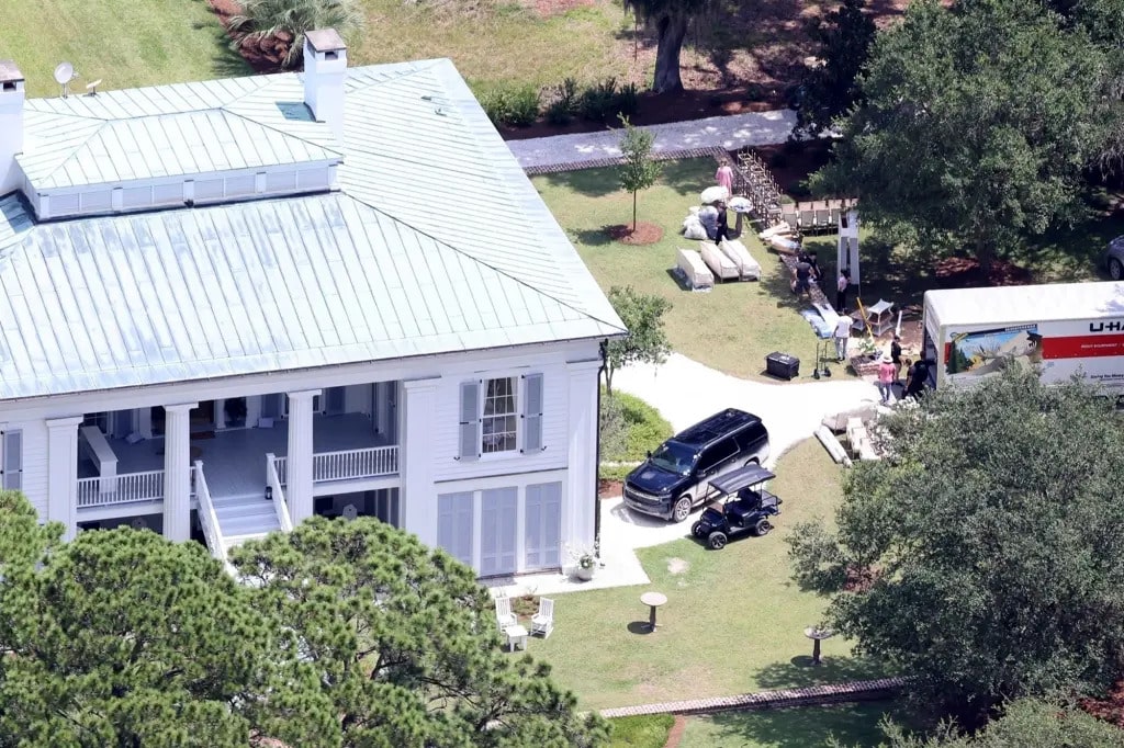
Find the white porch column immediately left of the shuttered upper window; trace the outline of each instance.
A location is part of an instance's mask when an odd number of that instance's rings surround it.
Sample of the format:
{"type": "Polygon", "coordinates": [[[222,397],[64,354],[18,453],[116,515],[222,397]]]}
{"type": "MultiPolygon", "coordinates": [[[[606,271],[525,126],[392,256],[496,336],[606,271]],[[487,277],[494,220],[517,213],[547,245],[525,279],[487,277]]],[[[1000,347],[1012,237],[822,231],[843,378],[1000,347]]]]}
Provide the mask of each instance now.
{"type": "MultiPolygon", "coordinates": [[[[418,536],[427,546],[437,545],[437,491],[433,484],[433,462],[453,459],[453,455],[436,455],[433,450],[439,382],[439,378],[402,382],[405,429],[398,435],[398,444],[401,445],[398,465],[402,477],[402,529],[418,536]]],[[[446,426],[448,429],[456,427],[455,423],[446,426]]]]}

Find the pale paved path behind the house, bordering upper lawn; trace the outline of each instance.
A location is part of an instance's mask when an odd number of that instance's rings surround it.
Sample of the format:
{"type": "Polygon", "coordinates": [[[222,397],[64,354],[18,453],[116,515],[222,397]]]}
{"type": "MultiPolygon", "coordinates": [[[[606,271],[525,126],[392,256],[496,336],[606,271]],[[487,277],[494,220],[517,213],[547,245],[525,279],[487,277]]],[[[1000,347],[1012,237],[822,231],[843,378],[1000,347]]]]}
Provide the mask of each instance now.
{"type": "MultiPolygon", "coordinates": [[[[655,133],[653,152],[670,155],[700,148],[722,147],[734,150],[747,145],[783,143],[795,125],[795,111],[778,109],[651,125],[644,129],[655,133]]],[[[619,144],[619,130],[602,130],[508,140],[507,146],[524,168],[549,171],[550,167],[560,166],[600,165],[598,162],[618,158],[619,144]]]]}

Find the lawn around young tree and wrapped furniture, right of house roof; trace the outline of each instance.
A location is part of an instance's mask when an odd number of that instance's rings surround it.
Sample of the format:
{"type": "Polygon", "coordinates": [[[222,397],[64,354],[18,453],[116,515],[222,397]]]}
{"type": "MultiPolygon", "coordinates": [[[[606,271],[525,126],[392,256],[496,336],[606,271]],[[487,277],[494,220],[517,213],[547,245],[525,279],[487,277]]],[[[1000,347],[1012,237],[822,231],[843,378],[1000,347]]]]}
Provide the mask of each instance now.
{"type": "MultiPolygon", "coordinates": [[[[660,182],[640,194],[640,220],[661,226],[663,239],[643,247],[613,241],[605,231],[632,220],[632,195],[617,186],[615,168],[549,174],[533,182],[602,289],[632,285],[672,302],[665,319],[677,353],[744,377],[761,377],[764,357],[774,350],[813,361],[815,334],[797,313],[806,304],[791,294],[785,266],[767,254],[749,225],[742,240],[761,263],[761,281],[718,284],[709,293],[679,285],[671,274],[676,250],[698,247],[680,234],[682,221],[714,182],[715,162],[663,162],[662,170],[660,182]]],[[[803,366],[800,378],[810,380],[812,371],[803,366]]]]}

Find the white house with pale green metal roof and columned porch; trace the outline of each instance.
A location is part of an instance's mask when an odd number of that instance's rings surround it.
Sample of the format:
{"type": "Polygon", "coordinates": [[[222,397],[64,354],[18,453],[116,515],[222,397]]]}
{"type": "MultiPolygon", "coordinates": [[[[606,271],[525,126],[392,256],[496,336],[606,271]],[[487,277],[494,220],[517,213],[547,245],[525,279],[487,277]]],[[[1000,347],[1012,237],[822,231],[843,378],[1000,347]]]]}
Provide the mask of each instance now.
{"type": "Polygon", "coordinates": [[[26,100],[0,62],[0,466],[217,557],[373,514],[484,576],[592,540],[623,325],[447,60],[26,100]]]}

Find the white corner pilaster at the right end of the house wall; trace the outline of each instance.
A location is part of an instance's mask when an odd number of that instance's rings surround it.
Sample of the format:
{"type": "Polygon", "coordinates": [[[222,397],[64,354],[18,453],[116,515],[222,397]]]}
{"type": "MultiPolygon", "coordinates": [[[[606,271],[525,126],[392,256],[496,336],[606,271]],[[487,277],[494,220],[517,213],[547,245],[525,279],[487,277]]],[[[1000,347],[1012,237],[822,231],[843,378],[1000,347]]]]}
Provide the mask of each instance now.
{"type": "Polygon", "coordinates": [[[570,454],[562,502],[562,541],[571,546],[593,542],[597,511],[597,389],[600,361],[566,364],[570,375],[570,454]]]}

